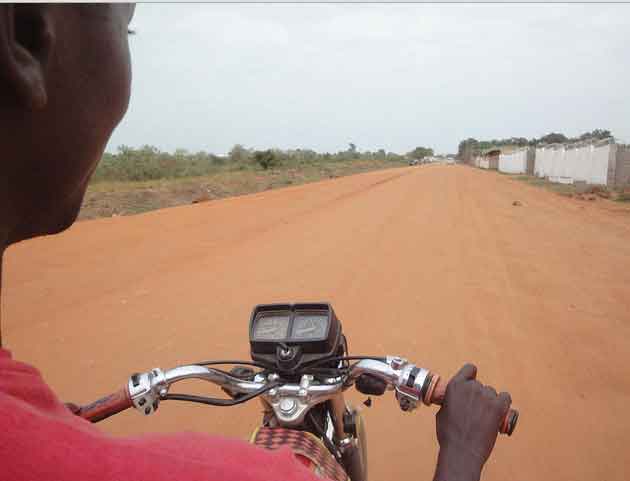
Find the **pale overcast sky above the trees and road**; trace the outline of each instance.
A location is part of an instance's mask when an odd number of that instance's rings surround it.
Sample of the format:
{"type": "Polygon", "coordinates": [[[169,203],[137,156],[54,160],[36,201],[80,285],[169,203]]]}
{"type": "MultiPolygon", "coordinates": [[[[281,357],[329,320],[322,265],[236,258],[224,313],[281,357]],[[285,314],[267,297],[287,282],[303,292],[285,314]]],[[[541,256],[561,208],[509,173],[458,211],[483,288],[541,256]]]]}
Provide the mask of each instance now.
{"type": "Polygon", "coordinates": [[[139,4],[108,150],[630,141],[630,5],[139,4]]]}

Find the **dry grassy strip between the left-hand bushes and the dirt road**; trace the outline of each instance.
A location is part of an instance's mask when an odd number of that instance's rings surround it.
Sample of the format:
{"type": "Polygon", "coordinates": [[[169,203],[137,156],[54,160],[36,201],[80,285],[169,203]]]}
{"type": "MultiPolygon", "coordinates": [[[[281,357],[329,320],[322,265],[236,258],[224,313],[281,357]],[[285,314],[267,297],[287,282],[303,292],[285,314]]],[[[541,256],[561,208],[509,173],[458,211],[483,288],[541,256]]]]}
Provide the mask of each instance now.
{"type": "Polygon", "coordinates": [[[290,169],[233,170],[203,177],[99,182],[89,186],[79,220],[140,214],[402,165],[385,160],[356,160],[305,164],[290,169]]]}

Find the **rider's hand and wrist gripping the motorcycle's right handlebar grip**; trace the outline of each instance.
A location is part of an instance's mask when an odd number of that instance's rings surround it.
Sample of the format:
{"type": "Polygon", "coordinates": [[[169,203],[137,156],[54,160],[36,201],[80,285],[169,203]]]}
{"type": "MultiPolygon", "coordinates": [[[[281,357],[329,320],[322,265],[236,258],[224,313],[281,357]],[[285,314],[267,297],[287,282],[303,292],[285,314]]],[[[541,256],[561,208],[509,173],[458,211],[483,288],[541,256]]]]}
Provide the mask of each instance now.
{"type": "Polygon", "coordinates": [[[436,415],[440,455],[436,481],[478,480],[490,457],[499,427],[512,403],[475,378],[477,368],[466,364],[451,379],[436,415]]]}

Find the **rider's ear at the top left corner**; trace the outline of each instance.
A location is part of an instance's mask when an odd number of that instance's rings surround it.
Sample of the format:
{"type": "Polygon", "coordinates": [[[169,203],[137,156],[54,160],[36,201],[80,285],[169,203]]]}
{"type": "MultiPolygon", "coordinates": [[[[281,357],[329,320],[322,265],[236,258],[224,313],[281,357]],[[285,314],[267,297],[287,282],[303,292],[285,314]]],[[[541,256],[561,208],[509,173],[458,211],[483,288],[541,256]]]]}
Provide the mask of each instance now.
{"type": "Polygon", "coordinates": [[[46,71],[54,43],[49,6],[0,6],[0,100],[5,106],[46,106],[46,71]]]}

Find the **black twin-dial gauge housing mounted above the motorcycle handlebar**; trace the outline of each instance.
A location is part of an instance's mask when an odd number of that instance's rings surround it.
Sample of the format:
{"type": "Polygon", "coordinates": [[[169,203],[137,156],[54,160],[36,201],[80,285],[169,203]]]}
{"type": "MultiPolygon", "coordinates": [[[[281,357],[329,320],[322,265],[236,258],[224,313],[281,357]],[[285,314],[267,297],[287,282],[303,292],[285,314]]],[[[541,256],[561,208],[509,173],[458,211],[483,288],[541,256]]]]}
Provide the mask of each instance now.
{"type": "Polygon", "coordinates": [[[252,312],[249,344],[252,360],[295,372],[304,363],[339,355],[343,335],[329,303],[261,304],[252,312]]]}

